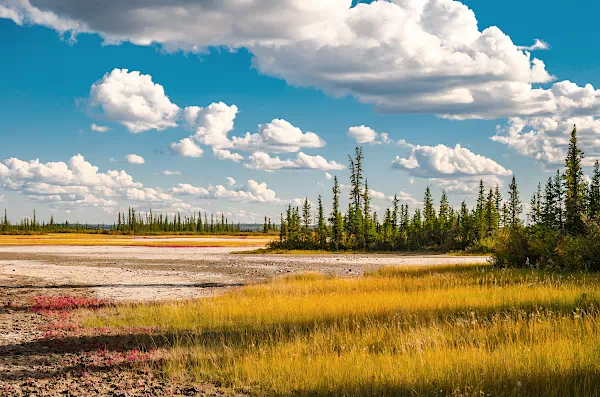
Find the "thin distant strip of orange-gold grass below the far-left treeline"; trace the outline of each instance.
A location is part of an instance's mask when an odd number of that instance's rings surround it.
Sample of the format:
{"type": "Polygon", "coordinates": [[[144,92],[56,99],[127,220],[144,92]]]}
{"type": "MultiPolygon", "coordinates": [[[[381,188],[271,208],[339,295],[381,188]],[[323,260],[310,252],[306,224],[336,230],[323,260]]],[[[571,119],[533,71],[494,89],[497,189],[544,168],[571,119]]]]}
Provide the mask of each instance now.
{"type": "Polygon", "coordinates": [[[0,246],[15,245],[79,245],[79,246],[144,246],[144,247],[257,247],[270,236],[119,236],[108,234],[50,233],[43,235],[0,235],[0,246]],[[176,240],[185,238],[185,240],[176,240]],[[214,240],[217,239],[217,240],[214,240]]]}

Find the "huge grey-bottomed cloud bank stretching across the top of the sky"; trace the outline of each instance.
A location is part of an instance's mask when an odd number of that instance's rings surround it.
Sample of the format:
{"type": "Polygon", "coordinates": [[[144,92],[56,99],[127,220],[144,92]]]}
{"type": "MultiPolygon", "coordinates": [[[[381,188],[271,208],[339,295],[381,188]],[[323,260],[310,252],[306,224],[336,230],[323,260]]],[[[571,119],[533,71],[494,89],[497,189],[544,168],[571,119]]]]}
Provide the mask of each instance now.
{"type": "MultiPolygon", "coordinates": [[[[553,76],[496,26],[479,30],[454,0],[268,0],[167,3],[109,0],[94,12],[77,0],[10,2],[0,17],[61,33],[97,33],[105,44],[166,51],[247,48],[261,72],[386,112],[453,118],[533,116],[556,110],[553,76]],[[108,16],[111,17],[108,17],[108,16]],[[114,18],[118,15],[118,18],[114,18]],[[160,15],[160,18],[156,16],[160,15]]],[[[159,117],[160,120],[165,118],[159,117]]],[[[169,122],[169,117],[166,117],[169,122]]],[[[156,125],[153,119],[149,126],[156,125]]],[[[162,127],[162,123],[159,126],[162,127]]]]}

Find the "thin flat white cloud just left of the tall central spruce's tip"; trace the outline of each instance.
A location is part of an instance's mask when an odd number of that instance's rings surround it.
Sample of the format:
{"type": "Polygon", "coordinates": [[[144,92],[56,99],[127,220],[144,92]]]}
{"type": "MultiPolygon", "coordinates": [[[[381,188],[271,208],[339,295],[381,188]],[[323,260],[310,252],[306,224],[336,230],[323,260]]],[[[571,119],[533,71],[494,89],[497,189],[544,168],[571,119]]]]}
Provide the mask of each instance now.
{"type": "Polygon", "coordinates": [[[342,170],[344,166],[335,161],[327,161],[322,156],[309,156],[303,152],[296,155],[295,159],[282,160],[279,157],[271,157],[265,152],[255,152],[248,157],[246,168],[262,171],[276,171],[285,169],[296,170],[342,170]]]}

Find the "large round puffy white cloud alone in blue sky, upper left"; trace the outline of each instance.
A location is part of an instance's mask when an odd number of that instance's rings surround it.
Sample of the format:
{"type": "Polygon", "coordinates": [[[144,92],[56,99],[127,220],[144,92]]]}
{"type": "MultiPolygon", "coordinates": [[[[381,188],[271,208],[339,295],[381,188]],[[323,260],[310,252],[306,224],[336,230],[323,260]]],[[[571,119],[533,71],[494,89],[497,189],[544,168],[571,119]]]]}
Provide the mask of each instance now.
{"type": "Polygon", "coordinates": [[[179,116],[179,107],[171,103],[160,84],[150,75],[127,69],[114,69],[95,82],[90,106],[101,108],[106,119],[133,133],[176,127],[179,116]]]}

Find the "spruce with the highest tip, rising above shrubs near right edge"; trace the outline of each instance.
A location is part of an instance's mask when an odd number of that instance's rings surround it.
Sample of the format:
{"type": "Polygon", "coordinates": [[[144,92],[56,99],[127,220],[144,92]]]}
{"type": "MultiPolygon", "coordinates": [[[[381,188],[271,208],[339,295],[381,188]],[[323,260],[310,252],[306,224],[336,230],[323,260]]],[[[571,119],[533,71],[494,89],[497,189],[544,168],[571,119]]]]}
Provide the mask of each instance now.
{"type": "Polygon", "coordinates": [[[585,213],[585,183],[583,180],[583,152],[577,146],[577,128],[574,126],[567,152],[564,175],[565,197],[565,229],[572,234],[583,232],[585,213]]]}

